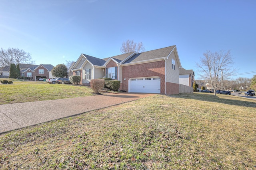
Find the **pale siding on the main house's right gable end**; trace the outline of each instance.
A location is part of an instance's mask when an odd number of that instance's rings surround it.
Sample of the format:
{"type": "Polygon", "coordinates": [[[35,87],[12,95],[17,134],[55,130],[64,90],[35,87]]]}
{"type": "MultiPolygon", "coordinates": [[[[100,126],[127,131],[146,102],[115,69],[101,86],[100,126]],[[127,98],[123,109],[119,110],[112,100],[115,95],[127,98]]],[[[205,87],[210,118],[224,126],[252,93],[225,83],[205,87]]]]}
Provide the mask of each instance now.
{"type": "Polygon", "coordinates": [[[180,69],[178,66],[178,60],[173,51],[172,54],[170,54],[170,56],[168,57],[168,59],[166,59],[166,82],[179,84],[179,74],[180,69]],[[175,70],[172,69],[172,59],[175,60],[175,70]]]}

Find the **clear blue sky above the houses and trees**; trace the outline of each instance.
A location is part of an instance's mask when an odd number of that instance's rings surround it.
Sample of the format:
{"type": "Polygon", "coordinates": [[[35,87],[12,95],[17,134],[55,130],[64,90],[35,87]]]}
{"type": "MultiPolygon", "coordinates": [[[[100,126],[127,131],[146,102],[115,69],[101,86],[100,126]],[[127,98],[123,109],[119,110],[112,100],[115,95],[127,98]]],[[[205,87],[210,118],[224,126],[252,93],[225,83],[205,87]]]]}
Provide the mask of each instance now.
{"type": "Polygon", "coordinates": [[[127,39],[146,51],[176,45],[182,67],[195,74],[206,50],[231,50],[239,74],[233,78],[252,78],[255,9],[255,0],[1,0],[0,48],[56,66],[81,53],[122,54],[127,39]]]}

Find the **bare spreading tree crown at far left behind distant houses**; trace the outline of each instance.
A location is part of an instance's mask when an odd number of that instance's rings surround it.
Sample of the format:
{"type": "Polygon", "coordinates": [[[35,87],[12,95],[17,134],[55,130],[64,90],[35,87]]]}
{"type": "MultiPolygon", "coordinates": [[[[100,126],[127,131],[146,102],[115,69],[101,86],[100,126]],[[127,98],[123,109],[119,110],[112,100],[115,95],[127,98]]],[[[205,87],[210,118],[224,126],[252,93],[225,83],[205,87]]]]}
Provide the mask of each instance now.
{"type": "Polygon", "coordinates": [[[8,48],[0,50],[0,66],[10,66],[12,64],[34,64],[31,54],[18,48],[8,48]]]}

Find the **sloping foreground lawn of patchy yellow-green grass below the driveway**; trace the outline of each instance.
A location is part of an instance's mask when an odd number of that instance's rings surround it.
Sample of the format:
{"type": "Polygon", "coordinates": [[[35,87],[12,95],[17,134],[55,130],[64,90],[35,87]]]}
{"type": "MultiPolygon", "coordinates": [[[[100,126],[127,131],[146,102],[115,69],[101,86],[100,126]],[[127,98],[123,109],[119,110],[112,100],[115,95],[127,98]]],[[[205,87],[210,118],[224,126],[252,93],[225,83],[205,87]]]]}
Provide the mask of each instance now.
{"type": "Polygon", "coordinates": [[[0,136],[1,169],[255,170],[256,101],[155,95],[0,136]]]}

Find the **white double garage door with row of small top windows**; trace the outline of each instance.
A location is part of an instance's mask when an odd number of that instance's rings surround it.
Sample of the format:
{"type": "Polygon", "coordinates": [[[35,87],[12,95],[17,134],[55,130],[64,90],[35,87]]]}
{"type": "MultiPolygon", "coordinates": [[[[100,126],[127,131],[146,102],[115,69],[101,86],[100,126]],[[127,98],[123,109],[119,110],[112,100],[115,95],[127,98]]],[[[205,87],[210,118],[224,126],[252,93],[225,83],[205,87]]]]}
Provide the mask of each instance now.
{"type": "Polygon", "coordinates": [[[130,78],[129,92],[160,93],[159,77],[130,78]]]}

